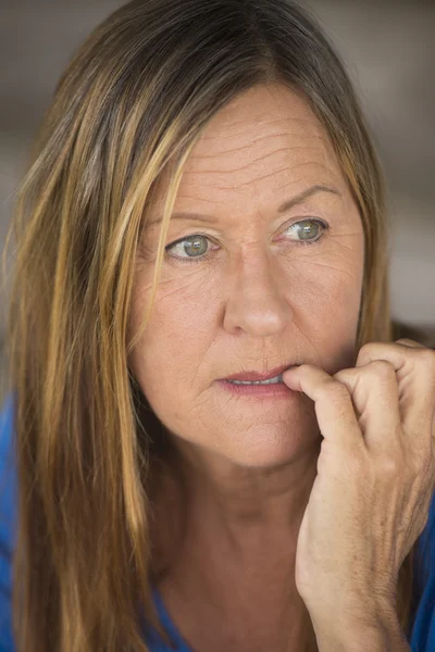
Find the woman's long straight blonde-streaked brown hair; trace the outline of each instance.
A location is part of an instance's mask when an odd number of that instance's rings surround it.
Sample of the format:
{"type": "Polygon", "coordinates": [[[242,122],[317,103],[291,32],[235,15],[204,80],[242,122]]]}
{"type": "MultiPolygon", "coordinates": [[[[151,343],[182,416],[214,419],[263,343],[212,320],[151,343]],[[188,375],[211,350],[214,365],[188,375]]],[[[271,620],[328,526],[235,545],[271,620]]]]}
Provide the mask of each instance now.
{"type": "MultiPolygon", "coordinates": [[[[221,108],[269,83],[304,95],[359,203],[357,344],[391,340],[382,174],[348,76],[314,20],[289,0],[134,0],[113,13],[59,82],[8,235],[7,247],[16,240],[7,349],[18,652],[146,652],[141,607],[158,626],[147,487],[160,429],[151,414],[139,416],[127,365],[140,337],[127,329],[136,248],[165,175],[145,329],[187,158],[221,108]]],[[[412,551],[398,582],[403,629],[411,581],[412,551]]]]}

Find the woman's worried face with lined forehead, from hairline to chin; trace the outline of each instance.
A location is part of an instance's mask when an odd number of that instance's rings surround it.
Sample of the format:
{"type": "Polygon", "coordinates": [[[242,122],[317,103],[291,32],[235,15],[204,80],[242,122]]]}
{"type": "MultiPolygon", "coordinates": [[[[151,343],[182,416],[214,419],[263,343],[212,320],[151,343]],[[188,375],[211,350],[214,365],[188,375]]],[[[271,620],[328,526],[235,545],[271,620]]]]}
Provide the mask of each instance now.
{"type": "MultiPolygon", "coordinates": [[[[175,212],[202,217],[171,222],[165,246],[178,243],[129,359],[144,394],[197,454],[264,468],[308,453],[319,441],[308,397],[253,398],[220,383],[302,363],[334,374],[356,361],[362,224],[308,103],[274,85],[228,104],[188,160],[175,212]]],[[[139,247],[130,334],[150,299],[159,229],[149,226],[139,247]]]]}

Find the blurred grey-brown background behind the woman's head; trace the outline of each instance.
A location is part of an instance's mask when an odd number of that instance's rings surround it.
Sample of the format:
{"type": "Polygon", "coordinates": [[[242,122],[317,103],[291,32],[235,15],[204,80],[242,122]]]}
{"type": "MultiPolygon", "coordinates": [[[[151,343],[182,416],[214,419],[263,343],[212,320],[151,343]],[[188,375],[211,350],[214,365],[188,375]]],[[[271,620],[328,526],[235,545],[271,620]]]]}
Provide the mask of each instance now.
{"type": "MultiPolygon", "coordinates": [[[[312,9],[341,54],[384,165],[394,318],[433,342],[435,0],[300,1],[312,9]]],[[[54,85],[92,27],[123,3],[0,0],[1,251],[28,149],[54,85]]],[[[0,303],[0,400],[7,304],[5,292],[0,303]]]]}

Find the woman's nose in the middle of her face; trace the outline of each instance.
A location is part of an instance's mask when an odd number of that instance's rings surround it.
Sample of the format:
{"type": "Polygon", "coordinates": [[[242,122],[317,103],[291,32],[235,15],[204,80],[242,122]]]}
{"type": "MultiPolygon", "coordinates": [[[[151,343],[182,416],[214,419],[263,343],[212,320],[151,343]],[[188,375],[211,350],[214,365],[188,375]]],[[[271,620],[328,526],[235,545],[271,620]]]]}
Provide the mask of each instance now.
{"type": "Polygon", "coordinates": [[[228,272],[224,328],[228,333],[266,337],[279,334],[293,319],[288,302],[288,268],[265,250],[240,253],[228,272]]]}

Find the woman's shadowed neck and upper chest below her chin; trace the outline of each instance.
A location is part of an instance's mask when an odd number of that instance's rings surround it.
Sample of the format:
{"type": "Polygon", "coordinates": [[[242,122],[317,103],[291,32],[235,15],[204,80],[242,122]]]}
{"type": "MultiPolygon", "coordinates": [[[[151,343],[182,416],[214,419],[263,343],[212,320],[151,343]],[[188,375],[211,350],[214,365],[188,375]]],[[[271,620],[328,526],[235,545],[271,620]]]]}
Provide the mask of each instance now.
{"type": "MultiPolygon", "coordinates": [[[[165,601],[176,611],[176,603],[194,605],[197,600],[206,622],[219,613],[229,629],[232,614],[234,627],[243,618],[249,629],[249,624],[259,626],[261,613],[269,649],[287,650],[285,641],[301,641],[310,624],[296,590],[295,560],[320,440],[315,450],[268,469],[240,468],[206,457],[184,441],[176,447],[185,497],[184,535],[182,544],[172,550],[170,570],[161,585],[165,601]],[[204,597],[209,606],[203,604],[204,597]],[[279,639],[272,647],[271,632],[279,639]]],[[[181,496],[179,482],[172,487],[181,496]]],[[[187,614],[184,623],[186,618],[187,614]]],[[[238,645],[244,649],[243,641],[238,645]]]]}

